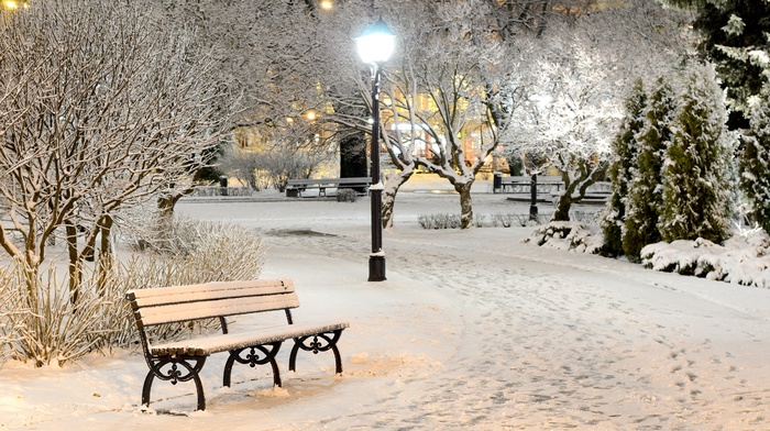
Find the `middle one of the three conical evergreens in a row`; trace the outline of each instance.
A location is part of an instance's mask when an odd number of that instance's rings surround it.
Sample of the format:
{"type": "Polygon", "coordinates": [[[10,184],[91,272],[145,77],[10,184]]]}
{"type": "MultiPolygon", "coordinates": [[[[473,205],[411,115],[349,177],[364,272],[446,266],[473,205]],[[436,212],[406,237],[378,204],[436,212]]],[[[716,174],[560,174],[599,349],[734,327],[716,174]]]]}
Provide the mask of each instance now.
{"type": "Polygon", "coordinates": [[[639,145],[628,195],[623,226],[623,252],[638,262],[645,245],[659,242],[658,219],[662,207],[663,156],[671,141],[671,123],[676,110],[671,85],[659,78],[650,95],[644,126],[636,136],[639,145]]]}

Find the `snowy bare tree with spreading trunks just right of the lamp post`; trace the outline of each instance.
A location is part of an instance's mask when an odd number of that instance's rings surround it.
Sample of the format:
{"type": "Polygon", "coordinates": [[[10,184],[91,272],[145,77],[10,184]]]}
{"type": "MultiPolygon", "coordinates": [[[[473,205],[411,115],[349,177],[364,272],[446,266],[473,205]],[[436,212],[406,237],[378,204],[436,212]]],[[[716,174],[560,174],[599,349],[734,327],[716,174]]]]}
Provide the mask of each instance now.
{"type": "Polygon", "coordinates": [[[480,30],[496,25],[490,4],[457,1],[400,10],[399,58],[386,69],[383,86],[388,121],[381,132],[397,168],[385,185],[386,228],[398,187],[418,166],[452,184],[462,228],[473,225],[471,187],[502,144],[513,108],[508,102],[517,98],[501,89],[518,68],[519,46],[480,30]]]}

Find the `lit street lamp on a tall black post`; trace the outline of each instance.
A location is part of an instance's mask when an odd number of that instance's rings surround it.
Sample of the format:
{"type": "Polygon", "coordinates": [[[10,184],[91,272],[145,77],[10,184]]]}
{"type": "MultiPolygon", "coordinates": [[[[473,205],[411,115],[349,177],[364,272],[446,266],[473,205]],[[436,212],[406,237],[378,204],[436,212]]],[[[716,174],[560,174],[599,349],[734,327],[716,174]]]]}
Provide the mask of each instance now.
{"type": "Polygon", "coordinates": [[[385,280],[385,253],[383,252],[383,183],[380,178],[380,78],[381,66],[391,58],[396,46],[396,35],[381,18],[366,26],[355,38],[361,59],[372,66],[372,254],[369,256],[369,280],[385,280]]]}

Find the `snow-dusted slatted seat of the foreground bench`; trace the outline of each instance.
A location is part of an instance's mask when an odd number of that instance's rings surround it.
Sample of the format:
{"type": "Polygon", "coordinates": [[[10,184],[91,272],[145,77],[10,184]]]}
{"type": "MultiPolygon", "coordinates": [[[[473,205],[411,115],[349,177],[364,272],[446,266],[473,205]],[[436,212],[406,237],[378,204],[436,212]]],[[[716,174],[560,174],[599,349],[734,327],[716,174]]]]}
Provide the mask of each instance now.
{"type": "Polygon", "coordinates": [[[334,323],[302,323],[280,327],[261,328],[241,333],[208,335],[206,338],[186,340],[167,344],[150,346],[150,352],[157,356],[194,355],[208,356],[219,352],[233,351],[261,344],[284,341],[305,335],[333,332],[349,328],[348,322],[334,323]]]}

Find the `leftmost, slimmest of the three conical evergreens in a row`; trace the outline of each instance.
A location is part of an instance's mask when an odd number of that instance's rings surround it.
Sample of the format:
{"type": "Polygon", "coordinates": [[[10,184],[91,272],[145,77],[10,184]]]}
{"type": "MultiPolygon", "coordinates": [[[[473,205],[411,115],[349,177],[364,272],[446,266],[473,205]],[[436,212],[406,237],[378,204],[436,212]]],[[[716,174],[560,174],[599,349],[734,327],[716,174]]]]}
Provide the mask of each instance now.
{"type": "Polygon", "coordinates": [[[636,165],[638,152],[636,135],[645,124],[646,109],[647,93],[641,79],[637,79],[631,95],[626,100],[626,117],[620,124],[620,131],[613,141],[613,161],[609,166],[613,194],[602,218],[604,232],[602,251],[608,256],[623,254],[623,223],[626,218],[624,200],[628,195],[631,169],[636,165]]]}

